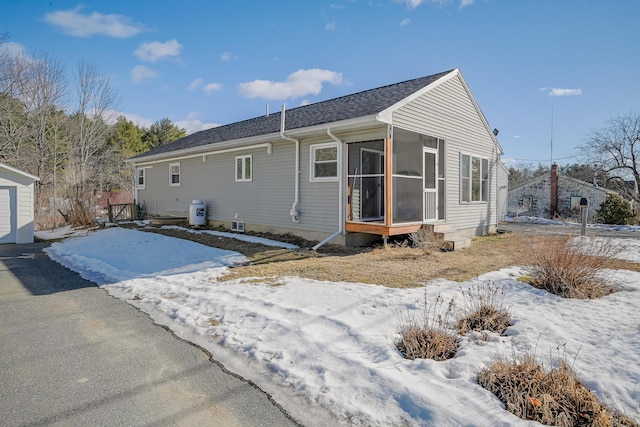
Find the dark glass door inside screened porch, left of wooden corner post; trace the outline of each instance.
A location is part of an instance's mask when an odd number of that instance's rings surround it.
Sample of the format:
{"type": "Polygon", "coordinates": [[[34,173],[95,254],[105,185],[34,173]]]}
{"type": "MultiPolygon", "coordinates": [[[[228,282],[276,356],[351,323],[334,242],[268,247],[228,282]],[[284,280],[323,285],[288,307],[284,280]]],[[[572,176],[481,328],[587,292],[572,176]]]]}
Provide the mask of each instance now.
{"type": "Polygon", "coordinates": [[[384,218],[384,152],[360,149],[362,177],[360,188],[360,219],[363,221],[384,218]]]}

